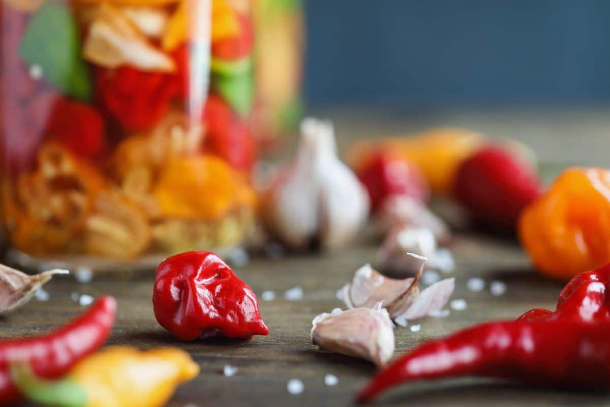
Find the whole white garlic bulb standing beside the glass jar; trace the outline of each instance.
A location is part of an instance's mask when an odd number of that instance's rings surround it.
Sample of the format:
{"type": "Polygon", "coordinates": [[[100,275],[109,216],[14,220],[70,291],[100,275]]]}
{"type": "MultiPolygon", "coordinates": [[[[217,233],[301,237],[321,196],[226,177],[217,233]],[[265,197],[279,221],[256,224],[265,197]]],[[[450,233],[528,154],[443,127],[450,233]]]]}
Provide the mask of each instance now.
{"type": "Polygon", "coordinates": [[[303,120],[295,160],[279,171],[263,198],[267,228],[295,250],[314,240],[333,249],[356,234],[368,209],[364,186],[337,157],[332,124],[303,120]]]}

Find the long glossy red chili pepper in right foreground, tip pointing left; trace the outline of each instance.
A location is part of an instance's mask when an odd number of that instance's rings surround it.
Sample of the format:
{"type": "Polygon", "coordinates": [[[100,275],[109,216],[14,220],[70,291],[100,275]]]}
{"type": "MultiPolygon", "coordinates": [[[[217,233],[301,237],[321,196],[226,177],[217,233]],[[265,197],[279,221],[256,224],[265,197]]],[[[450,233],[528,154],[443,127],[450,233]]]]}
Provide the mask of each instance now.
{"type": "Polygon", "coordinates": [[[609,336],[608,323],[576,320],[476,325],[407,353],[378,373],[357,400],[367,402],[399,383],[465,375],[610,389],[609,336]]]}

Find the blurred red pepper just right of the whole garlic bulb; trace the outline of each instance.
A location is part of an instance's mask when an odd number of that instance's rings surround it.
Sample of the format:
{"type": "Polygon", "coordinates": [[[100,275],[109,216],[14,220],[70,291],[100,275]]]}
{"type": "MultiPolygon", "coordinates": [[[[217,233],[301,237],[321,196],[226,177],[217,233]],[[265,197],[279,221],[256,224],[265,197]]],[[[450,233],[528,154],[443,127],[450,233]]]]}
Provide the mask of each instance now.
{"type": "Polygon", "coordinates": [[[430,189],[417,165],[392,153],[373,156],[357,173],[376,211],[388,196],[400,195],[425,202],[430,189]]]}

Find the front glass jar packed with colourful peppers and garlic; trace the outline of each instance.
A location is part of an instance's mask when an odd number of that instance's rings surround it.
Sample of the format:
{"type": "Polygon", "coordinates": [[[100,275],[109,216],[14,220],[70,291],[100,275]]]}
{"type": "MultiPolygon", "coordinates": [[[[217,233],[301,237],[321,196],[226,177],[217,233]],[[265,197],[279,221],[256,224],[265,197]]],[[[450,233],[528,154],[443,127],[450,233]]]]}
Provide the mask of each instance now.
{"type": "Polygon", "coordinates": [[[148,267],[240,243],[256,204],[250,11],[247,0],[0,3],[13,260],[148,267]]]}

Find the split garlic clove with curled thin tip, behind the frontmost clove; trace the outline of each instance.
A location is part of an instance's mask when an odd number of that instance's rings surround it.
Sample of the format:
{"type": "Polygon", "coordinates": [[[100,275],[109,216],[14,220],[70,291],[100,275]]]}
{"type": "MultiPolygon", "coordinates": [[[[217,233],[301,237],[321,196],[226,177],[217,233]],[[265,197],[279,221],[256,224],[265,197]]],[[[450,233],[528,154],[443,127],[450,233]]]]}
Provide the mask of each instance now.
{"type": "Polygon", "coordinates": [[[359,268],[351,283],[342,290],[343,301],[348,308],[383,303],[392,319],[411,320],[423,318],[442,309],[455,288],[455,279],[447,278],[432,284],[420,292],[419,279],[425,259],[411,254],[419,262],[419,272],[414,278],[393,279],[373,270],[370,265],[359,268]]]}

